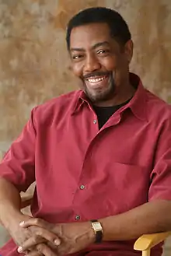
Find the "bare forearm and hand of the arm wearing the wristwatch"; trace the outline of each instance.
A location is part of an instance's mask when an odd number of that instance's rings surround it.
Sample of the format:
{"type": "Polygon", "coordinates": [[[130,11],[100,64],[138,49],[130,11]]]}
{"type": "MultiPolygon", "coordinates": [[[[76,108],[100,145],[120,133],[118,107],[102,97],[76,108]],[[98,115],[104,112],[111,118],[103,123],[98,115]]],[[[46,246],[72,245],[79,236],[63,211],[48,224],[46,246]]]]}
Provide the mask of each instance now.
{"type": "MultiPolygon", "coordinates": [[[[155,202],[148,202],[145,205],[138,206],[129,212],[99,219],[103,226],[103,241],[131,240],[140,237],[143,233],[171,230],[170,211],[171,202],[156,200],[155,202]]],[[[37,228],[56,233],[61,238],[61,244],[55,250],[59,256],[82,251],[82,249],[93,244],[95,240],[95,234],[90,222],[52,224],[41,219],[29,219],[25,223],[21,223],[21,226],[24,228],[37,226],[37,228]]],[[[44,237],[44,233],[42,235],[44,237]]],[[[154,240],[152,243],[154,244],[154,240]]],[[[19,252],[23,253],[37,244],[37,240],[31,237],[23,244],[19,252]]],[[[41,244],[38,244],[37,248],[42,254],[48,255],[41,244]]],[[[138,246],[135,249],[139,250],[141,248],[138,246]]]]}

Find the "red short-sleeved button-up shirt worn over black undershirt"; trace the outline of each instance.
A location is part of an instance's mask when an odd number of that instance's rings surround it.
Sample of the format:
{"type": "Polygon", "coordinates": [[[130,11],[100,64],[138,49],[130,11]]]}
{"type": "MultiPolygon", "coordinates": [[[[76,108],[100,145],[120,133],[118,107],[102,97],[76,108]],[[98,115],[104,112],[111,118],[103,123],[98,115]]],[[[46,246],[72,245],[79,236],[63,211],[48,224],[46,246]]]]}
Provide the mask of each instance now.
{"type": "MultiPolygon", "coordinates": [[[[134,97],[100,130],[82,90],[33,109],[0,165],[0,176],[19,191],[36,180],[33,216],[68,223],[117,215],[154,199],[171,200],[170,107],[138,76],[131,79],[138,80],[134,97]]],[[[89,256],[132,256],[133,244],[95,245],[89,256]]],[[[0,254],[18,255],[12,242],[0,254]]]]}

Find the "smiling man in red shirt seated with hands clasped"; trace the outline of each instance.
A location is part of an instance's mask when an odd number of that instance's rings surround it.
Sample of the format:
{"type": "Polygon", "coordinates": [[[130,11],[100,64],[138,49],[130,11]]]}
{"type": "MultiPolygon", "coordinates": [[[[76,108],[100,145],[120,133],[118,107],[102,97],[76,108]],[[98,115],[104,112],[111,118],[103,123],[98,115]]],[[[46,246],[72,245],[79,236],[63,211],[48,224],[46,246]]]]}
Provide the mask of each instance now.
{"type": "Polygon", "coordinates": [[[66,39],[81,89],[35,107],[1,163],[0,218],[14,241],[0,254],[140,254],[141,234],[171,230],[169,105],[129,72],[133,43],[117,12],[79,12],[66,39]],[[19,192],[33,181],[31,219],[19,192]]]}

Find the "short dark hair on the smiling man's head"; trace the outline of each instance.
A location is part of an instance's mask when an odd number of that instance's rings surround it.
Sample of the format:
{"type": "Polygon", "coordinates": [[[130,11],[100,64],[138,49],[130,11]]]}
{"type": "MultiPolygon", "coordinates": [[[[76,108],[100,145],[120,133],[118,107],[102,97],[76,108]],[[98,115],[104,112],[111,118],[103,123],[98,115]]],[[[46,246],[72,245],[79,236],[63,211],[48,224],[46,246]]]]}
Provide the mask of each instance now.
{"type": "Polygon", "coordinates": [[[70,19],[66,35],[68,50],[70,48],[72,29],[89,23],[107,23],[110,27],[111,36],[120,44],[124,45],[131,39],[127,23],[118,12],[105,7],[93,7],[82,10],[70,19]]]}

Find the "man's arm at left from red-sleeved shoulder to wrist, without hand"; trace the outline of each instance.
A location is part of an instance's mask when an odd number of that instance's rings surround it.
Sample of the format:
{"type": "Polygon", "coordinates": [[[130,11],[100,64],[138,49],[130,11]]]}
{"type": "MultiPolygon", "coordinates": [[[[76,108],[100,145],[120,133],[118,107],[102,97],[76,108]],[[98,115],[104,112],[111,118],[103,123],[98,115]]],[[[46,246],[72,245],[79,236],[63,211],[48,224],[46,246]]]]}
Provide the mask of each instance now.
{"type": "Polygon", "coordinates": [[[11,148],[0,163],[0,220],[7,229],[11,222],[22,216],[20,191],[26,191],[35,180],[36,129],[33,120],[34,111],[23,128],[23,132],[12,143],[11,148]]]}

